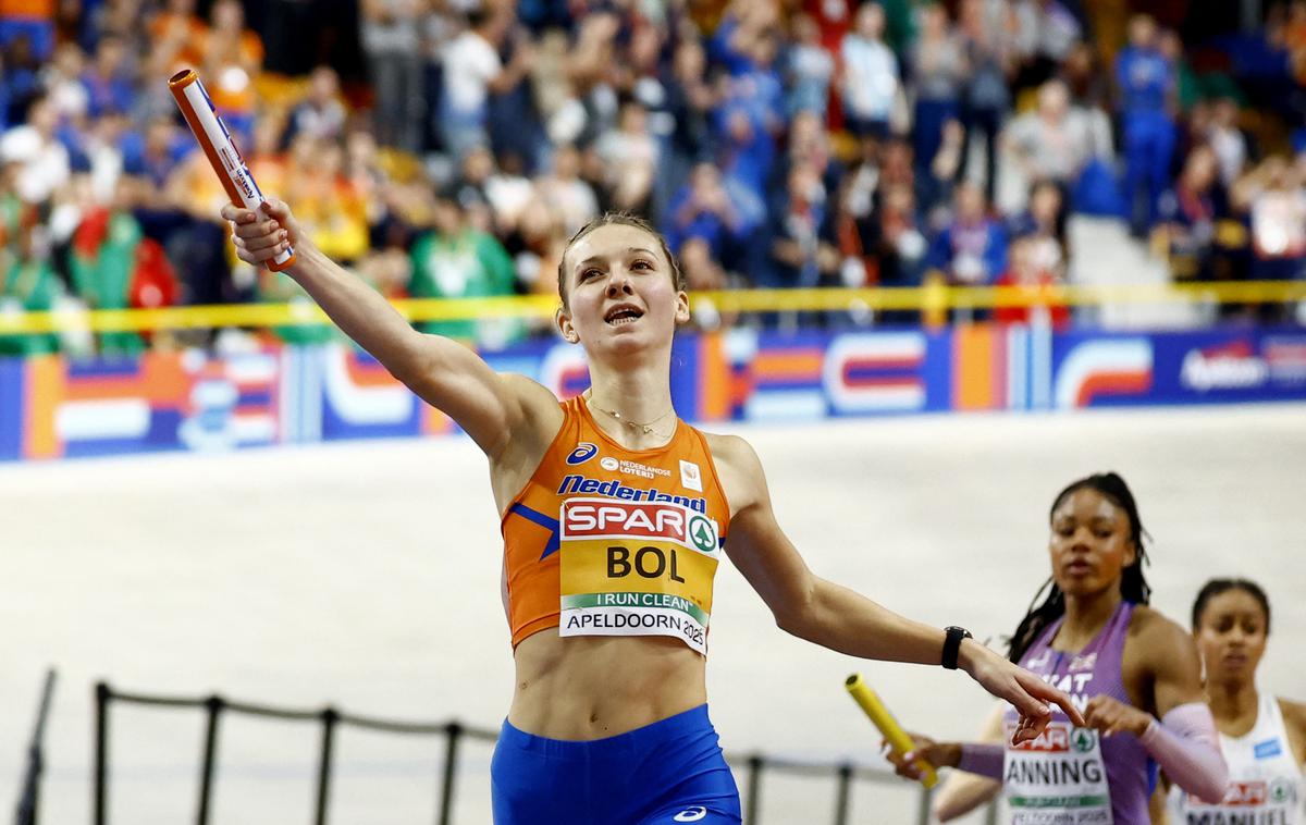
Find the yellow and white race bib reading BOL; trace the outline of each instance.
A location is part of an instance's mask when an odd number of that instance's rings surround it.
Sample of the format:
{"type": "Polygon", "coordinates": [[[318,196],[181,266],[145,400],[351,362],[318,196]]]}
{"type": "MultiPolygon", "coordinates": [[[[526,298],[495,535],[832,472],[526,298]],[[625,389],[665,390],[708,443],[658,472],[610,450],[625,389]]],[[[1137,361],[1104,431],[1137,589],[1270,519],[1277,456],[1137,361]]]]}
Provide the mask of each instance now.
{"type": "Polygon", "coordinates": [[[707,654],[717,523],[671,501],[568,499],[562,636],[673,636],[707,654]]]}

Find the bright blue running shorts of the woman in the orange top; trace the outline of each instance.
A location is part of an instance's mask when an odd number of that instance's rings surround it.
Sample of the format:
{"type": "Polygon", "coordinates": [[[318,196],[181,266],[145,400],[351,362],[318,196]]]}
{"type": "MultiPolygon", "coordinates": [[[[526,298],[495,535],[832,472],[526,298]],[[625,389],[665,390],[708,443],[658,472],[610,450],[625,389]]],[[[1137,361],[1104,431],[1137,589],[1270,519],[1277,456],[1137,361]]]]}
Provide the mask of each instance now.
{"type": "Polygon", "coordinates": [[[739,825],[739,788],[700,705],[619,736],[563,741],[503,723],[495,825],[739,825]]]}

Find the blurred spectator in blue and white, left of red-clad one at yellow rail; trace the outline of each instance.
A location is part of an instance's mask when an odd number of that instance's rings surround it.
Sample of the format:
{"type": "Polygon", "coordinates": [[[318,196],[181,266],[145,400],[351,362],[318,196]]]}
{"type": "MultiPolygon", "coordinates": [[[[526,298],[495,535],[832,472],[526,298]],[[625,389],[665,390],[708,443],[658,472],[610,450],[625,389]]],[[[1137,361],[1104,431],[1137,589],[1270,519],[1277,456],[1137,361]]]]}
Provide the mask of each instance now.
{"type": "Polygon", "coordinates": [[[953,217],[930,244],[926,266],[959,286],[987,286],[1006,269],[1007,234],[989,217],[983,189],[957,187],[953,217]]]}

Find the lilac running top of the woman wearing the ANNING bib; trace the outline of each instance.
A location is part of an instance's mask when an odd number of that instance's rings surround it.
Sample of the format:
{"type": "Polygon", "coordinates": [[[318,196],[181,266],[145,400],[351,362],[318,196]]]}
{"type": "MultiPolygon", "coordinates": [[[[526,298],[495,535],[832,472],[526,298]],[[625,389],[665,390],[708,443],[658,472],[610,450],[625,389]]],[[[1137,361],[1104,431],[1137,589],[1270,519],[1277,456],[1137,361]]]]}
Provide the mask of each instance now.
{"type": "MultiPolygon", "coordinates": [[[[1063,616],[1029,646],[1020,666],[1068,693],[1076,708],[1083,709],[1098,694],[1132,705],[1121,675],[1124,637],[1132,615],[1134,603],[1121,602],[1106,627],[1079,653],[1051,647],[1051,640],[1064,621],[1063,616]]],[[[1008,709],[1007,723],[1015,724],[1016,718],[1015,710],[1008,709]]],[[[1066,713],[1053,705],[1053,721],[1058,719],[1066,722],[1066,713]]],[[[1130,734],[1100,738],[1100,741],[1111,796],[1111,818],[1115,825],[1148,825],[1148,798],[1156,785],[1156,764],[1138,738],[1130,734]]]]}

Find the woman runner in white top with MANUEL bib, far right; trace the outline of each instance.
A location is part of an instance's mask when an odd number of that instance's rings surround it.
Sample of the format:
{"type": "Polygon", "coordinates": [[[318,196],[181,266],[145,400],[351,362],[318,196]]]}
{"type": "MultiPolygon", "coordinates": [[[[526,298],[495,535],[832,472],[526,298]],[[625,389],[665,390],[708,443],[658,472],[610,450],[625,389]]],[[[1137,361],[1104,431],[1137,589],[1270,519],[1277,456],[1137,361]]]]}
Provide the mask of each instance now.
{"type": "Polygon", "coordinates": [[[1207,674],[1207,705],[1229,762],[1218,804],[1170,788],[1177,825],[1306,822],[1306,705],[1256,689],[1269,638],[1269,599],[1245,578],[1213,578],[1192,603],[1192,636],[1207,674]]]}

